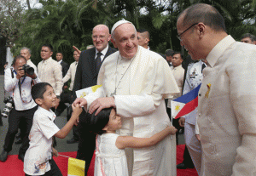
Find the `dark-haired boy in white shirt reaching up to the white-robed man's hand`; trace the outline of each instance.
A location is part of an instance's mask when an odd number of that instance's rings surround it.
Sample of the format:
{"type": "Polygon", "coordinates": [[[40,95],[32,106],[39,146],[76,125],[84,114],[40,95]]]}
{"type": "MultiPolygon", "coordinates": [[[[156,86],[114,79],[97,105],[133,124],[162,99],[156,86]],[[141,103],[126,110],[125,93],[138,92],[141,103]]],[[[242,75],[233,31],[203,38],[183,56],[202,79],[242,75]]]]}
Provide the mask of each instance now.
{"type": "Polygon", "coordinates": [[[29,148],[24,157],[24,172],[26,175],[62,175],[59,167],[52,159],[52,154],[58,156],[57,150],[52,147],[53,136],[65,138],[76,119],[82,112],[82,108],[72,106],[73,114],[67,124],[59,129],[55,123],[55,113],[51,107],[57,104],[57,98],[52,86],[47,82],[41,82],[32,87],[32,98],[38,104],[38,110],[33,116],[32,128],[29,133],[29,148]]]}

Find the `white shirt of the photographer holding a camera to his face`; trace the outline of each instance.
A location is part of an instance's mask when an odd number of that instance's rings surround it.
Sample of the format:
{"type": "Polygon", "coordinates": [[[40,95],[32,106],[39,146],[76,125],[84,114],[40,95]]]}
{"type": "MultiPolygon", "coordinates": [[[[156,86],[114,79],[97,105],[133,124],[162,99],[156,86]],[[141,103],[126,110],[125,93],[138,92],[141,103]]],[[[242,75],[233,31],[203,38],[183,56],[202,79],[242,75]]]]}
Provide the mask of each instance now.
{"type": "Polygon", "coordinates": [[[15,110],[30,110],[37,105],[31,95],[32,82],[37,84],[38,82],[41,82],[41,80],[38,77],[36,79],[32,79],[31,77],[21,77],[21,86],[19,88],[19,79],[16,77],[16,72],[13,72],[14,78],[12,78],[10,69],[4,71],[4,89],[10,94],[13,92],[15,110]]]}

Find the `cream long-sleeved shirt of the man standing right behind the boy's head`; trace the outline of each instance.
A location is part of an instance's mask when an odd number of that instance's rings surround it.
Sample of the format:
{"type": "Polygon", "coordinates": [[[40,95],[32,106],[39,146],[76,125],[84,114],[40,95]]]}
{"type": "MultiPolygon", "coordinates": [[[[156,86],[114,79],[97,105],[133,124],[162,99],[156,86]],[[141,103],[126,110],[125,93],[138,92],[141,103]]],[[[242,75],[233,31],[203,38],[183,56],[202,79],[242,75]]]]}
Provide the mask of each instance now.
{"type": "Polygon", "coordinates": [[[56,95],[61,95],[63,80],[62,67],[56,60],[51,57],[47,60],[42,60],[38,64],[38,77],[42,82],[48,82],[54,89],[56,95]]]}

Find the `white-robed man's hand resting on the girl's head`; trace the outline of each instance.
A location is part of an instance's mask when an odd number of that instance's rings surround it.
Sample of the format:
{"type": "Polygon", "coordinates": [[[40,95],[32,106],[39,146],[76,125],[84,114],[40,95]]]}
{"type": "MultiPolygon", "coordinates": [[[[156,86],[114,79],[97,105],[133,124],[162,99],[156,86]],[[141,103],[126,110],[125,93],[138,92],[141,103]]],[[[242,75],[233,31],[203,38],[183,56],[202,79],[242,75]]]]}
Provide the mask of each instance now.
{"type": "Polygon", "coordinates": [[[97,116],[102,109],[109,107],[115,108],[113,97],[98,98],[90,105],[89,113],[92,114],[94,111],[96,111],[95,116],[97,116]]]}

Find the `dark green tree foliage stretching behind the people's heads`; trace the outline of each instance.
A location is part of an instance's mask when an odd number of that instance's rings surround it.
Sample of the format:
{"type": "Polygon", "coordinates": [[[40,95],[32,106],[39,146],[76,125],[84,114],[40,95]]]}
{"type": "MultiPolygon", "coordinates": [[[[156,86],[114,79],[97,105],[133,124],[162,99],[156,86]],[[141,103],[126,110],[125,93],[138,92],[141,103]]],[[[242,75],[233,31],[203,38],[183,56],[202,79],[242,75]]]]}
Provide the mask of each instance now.
{"type": "MultiPolygon", "coordinates": [[[[4,0],[0,0],[4,1],[4,0]]],[[[5,0],[8,1],[8,0],[5,0]]],[[[11,0],[14,1],[15,0],[11,0]]],[[[9,1],[8,1],[9,2],[9,1]]],[[[109,26],[117,20],[130,20],[137,28],[150,33],[149,46],[164,53],[167,48],[180,50],[177,39],[177,15],[194,3],[213,5],[224,16],[227,32],[239,40],[246,32],[255,33],[255,0],[39,0],[42,9],[26,10],[26,23],[20,21],[13,52],[21,47],[32,49],[37,64],[44,43],[61,51],[73,61],[75,45],[83,50],[92,44],[91,31],[98,24],[109,26]]],[[[21,7],[22,8],[22,7],[21,7]]],[[[22,14],[22,13],[21,13],[22,14]]],[[[10,15],[11,16],[11,15],[10,15]]],[[[15,24],[15,23],[14,23],[15,24]]],[[[2,27],[4,29],[4,27],[2,27]]],[[[7,29],[7,27],[5,27],[7,29]]]]}

